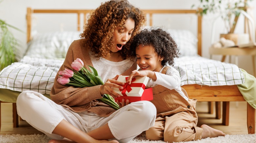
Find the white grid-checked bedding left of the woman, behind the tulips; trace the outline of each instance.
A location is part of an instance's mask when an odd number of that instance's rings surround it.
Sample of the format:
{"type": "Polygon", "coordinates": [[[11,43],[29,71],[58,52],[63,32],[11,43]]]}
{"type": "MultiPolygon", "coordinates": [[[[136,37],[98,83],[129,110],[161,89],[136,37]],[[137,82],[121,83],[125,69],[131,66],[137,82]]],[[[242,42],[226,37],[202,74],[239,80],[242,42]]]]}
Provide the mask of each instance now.
{"type": "Polygon", "coordinates": [[[64,59],[24,56],[0,72],[0,88],[14,91],[32,90],[50,94],[54,78],[64,59]]]}

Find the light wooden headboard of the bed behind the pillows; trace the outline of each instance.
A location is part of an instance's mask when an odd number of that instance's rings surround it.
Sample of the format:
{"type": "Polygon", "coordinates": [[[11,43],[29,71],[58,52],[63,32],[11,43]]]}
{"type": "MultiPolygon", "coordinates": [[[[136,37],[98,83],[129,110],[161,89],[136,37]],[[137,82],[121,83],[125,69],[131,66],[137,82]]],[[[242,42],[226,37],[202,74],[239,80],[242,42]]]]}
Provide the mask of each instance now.
{"type": "MultiPolygon", "coordinates": [[[[193,9],[173,9],[173,10],[156,10],[156,9],[144,9],[146,15],[149,15],[149,26],[153,25],[154,14],[196,14],[197,15],[197,38],[198,38],[198,55],[202,56],[202,16],[198,10],[193,9]]],[[[87,15],[90,14],[92,9],[32,9],[27,8],[27,42],[31,40],[31,27],[32,27],[32,14],[34,13],[76,13],[77,14],[77,30],[80,31],[81,15],[83,15],[83,25],[87,21],[87,15]]],[[[196,28],[196,27],[195,27],[196,28]]]]}

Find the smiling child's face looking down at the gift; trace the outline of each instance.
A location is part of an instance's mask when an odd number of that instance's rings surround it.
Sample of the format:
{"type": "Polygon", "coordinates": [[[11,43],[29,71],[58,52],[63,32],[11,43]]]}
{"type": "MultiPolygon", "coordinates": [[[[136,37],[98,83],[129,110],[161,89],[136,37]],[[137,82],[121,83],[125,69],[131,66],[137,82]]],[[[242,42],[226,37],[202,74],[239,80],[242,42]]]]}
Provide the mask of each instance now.
{"type": "Polygon", "coordinates": [[[137,64],[141,70],[150,70],[159,72],[162,69],[161,62],[163,57],[158,56],[151,45],[136,48],[137,64]]]}

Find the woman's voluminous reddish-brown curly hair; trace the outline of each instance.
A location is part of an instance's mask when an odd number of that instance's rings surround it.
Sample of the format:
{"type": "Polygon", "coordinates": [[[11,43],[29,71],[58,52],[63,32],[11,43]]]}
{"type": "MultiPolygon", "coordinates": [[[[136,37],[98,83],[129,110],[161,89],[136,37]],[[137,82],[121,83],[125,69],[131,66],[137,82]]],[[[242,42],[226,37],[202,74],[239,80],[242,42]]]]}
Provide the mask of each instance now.
{"type": "Polygon", "coordinates": [[[110,0],[101,3],[90,16],[84,32],[80,34],[81,39],[84,39],[83,44],[90,47],[97,57],[110,56],[110,48],[114,45],[114,30],[121,27],[118,31],[121,33],[125,21],[129,18],[135,21],[135,27],[131,39],[122,47],[120,53],[125,59],[132,57],[129,55],[131,40],[145,23],[146,17],[142,10],[134,7],[127,0],[110,0]]]}

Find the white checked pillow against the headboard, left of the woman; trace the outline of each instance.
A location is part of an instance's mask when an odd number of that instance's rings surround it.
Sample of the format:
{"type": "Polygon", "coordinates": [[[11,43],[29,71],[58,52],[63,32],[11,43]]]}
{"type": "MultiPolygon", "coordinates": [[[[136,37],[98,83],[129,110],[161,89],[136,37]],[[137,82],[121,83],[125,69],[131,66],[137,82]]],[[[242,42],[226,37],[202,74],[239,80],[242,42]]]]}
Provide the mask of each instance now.
{"type": "Polygon", "coordinates": [[[37,34],[28,44],[25,56],[65,58],[70,44],[80,39],[78,31],[48,32],[37,34]]]}

